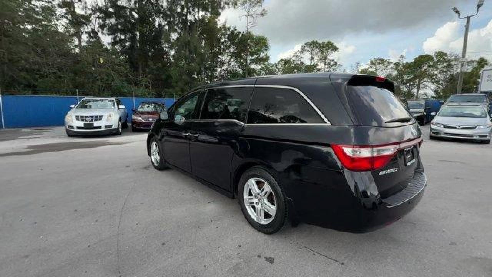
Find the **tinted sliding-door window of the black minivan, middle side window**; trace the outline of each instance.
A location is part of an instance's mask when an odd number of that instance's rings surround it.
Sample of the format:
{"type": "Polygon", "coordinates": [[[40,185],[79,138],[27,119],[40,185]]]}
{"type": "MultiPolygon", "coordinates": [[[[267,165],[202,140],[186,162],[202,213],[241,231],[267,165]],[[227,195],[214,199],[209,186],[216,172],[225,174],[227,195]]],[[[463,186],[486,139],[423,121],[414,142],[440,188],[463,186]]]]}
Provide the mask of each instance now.
{"type": "Polygon", "coordinates": [[[207,90],[200,119],[231,119],[246,122],[252,88],[216,88],[207,90]]]}

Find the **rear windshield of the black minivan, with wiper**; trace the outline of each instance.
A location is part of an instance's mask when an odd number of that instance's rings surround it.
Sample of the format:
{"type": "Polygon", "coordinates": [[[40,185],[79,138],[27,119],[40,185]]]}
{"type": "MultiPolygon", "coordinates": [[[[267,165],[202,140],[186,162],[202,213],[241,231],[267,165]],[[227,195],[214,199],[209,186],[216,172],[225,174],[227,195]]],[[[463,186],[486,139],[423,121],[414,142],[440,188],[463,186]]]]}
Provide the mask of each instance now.
{"type": "Polygon", "coordinates": [[[361,126],[399,126],[413,119],[389,90],[375,86],[347,86],[350,105],[361,126]]]}

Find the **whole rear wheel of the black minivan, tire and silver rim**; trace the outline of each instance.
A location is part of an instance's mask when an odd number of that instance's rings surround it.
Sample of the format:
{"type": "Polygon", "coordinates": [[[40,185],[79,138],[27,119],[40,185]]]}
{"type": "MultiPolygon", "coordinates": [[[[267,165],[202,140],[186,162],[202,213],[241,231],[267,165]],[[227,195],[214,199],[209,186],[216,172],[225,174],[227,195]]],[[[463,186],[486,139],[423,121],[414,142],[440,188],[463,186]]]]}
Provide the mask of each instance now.
{"type": "Polygon", "coordinates": [[[239,203],[247,221],[256,230],[276,233],[287,218],[282,189],[275,178],[261,167],[246,171],[238,189],[239,203]]]}

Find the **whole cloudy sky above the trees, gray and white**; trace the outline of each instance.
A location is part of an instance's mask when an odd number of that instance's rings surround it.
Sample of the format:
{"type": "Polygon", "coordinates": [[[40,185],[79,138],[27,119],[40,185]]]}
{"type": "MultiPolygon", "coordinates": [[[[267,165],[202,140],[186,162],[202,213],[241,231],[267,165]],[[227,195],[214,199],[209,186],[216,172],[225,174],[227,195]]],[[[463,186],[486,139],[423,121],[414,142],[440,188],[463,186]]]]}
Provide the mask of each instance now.
{"type": "MultiPolygon", "coordinates": [[[[370,58],[407,59],[435,50],[461,54],[465,20],[451,10],[473,14],[477,0],[265,0],[267,16],[252,32],[270,41],[273,62],[308,40],[332,40],[346,69],[370,58]]],[[[221,20],[244,30],[240,10],[226,10],[221,20]]],[[[468,57],[492,60],[492,0],[471,19],[468,57]],[[485,52],[488,51],[488,52],[485,52]],[[480,52],[480,53],[478,53],[480,52]]]]}

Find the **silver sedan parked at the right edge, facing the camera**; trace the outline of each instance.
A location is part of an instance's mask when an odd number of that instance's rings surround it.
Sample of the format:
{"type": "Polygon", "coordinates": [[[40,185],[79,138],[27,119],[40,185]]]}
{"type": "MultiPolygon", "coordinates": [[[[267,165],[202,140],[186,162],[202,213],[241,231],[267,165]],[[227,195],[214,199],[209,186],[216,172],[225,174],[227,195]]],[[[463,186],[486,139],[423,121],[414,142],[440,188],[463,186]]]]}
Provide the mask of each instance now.
{"type": "Polygon", "coordinates": [[[480,104],[444,105],[431,122],[429,138],[467,138],[491,142],[492,123],[480,104]]]}

